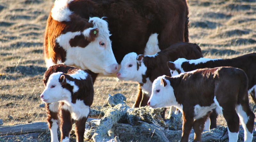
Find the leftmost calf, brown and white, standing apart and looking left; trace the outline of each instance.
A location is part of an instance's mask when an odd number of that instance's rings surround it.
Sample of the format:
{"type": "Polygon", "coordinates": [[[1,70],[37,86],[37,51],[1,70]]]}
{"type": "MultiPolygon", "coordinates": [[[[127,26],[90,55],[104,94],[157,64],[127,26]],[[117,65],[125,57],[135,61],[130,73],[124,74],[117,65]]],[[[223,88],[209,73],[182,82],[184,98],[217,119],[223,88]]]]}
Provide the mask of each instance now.
{"type": "Polygon", "coordinates": [[[76,141],[84,141],[85,123],[93,101],[91,76],[76,67],[57,64],[44,73],[44,92],[40,95],[46,103],[47,122],[51,142],[58,142],[60,122],[61,141],[69,141],[72,120],[76,123],[76,141]]]}

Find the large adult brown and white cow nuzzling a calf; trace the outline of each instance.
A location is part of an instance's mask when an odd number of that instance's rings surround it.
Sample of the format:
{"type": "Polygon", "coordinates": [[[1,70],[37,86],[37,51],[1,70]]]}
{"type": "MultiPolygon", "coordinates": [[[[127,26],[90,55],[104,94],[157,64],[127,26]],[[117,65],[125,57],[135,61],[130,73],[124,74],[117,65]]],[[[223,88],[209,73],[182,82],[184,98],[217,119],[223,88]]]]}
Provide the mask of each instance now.
{"type": "Polygon", "coordinates": [[[186,0],[56,0],[44,55],[47,67],[65,63],[109,75],[130,52],[155,54],[179,41],[188,42],[186,0]]]}

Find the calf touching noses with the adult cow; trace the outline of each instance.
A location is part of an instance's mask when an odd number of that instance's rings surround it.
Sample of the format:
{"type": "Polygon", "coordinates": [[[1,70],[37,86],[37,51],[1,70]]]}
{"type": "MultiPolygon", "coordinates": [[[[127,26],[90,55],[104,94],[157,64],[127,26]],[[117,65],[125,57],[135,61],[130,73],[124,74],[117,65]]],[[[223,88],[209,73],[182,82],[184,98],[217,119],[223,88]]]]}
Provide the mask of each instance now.
{"type": "Polygon", "coordinates": [[[175,61],[178,58],[198,59],[200,57],[203,57],[200,47],[187,42],[173,44],[169,48],[150,56],[137,55],[132,52],[124,56],[117,77],[121,80],[139,82],[139,93],[134,107],[146,106],[151,94],[152,82],[159,76],[171,75],[166,66],[167,61],[175,61]],[[141,90],[146,94],[143,99],[141,90]]]}

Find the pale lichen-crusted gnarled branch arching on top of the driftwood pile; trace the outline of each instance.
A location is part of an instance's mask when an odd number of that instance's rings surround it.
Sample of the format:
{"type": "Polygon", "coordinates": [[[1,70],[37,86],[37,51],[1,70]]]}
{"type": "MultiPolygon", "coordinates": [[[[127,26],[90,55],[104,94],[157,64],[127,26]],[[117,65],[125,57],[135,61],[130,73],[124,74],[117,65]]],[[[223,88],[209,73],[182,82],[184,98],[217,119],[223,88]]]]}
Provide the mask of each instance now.
{"type": "MultiPolygon", "coordinates": [[[[113,125],[119,123],[139,124],[138,121],[155,122],[159,127],[168,128],[167,123],[161,118],[162,109],[152,109],[149,107],[132,109],[125,104],[126,98],[122,94],[116,94],[113,97],[108,96],[108,105],[103,107],[104,117],[101,118],[100,125],[96,129],[87,130],[85,138],[92,138],[95,142],[109,141],[114,138],[112,131],[113,125]]],[[[94,127],[93,127],[94,128],[94,127]]]]}

